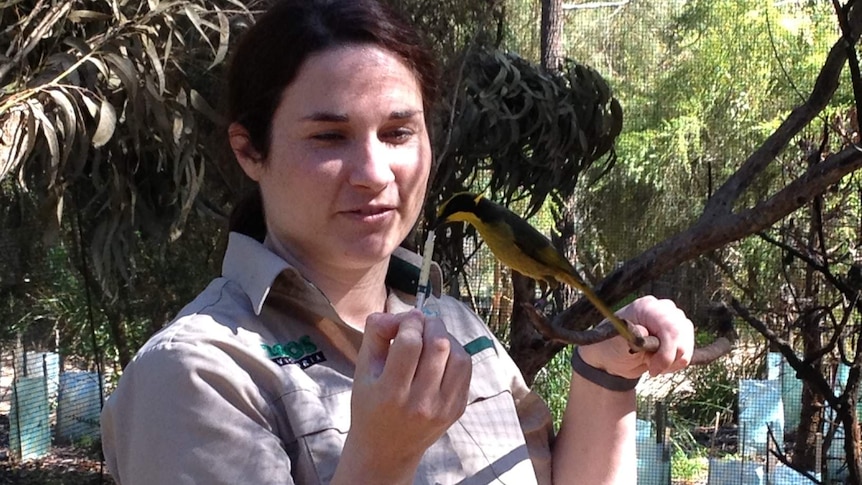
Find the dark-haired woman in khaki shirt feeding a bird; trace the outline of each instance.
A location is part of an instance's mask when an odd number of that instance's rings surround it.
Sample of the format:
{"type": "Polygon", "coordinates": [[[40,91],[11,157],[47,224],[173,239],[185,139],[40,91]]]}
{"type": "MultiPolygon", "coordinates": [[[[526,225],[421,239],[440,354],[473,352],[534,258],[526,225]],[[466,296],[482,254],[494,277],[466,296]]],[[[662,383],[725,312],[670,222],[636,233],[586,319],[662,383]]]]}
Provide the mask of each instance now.
{"type": "Polygon", "coordinates": [[[411,310],[389,270],[418,265],[399,244],[425,198],[435,81],[373,0],[284,0],[244,36],[228,135],[265,238],[232,232],[223,276],[125,370],[102,415],[119,484],[634,483],[634,379],[693,347],[672,303],[621,311],[655,354],[579,349],[554,438],[481,320],[439,291],[436,316],[411,310]]]}

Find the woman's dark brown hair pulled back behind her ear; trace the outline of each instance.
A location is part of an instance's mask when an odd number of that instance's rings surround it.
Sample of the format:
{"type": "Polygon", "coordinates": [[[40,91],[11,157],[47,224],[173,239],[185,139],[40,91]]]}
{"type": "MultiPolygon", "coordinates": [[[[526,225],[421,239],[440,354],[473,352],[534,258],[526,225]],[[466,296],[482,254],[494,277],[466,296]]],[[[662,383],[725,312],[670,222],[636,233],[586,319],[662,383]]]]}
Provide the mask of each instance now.
{"type": "MultiPolygon", "coordinates": [[[[312,54],[347,44],[374,44],[413,71],[426,116],[438,96],[434,56],[418,32],[377,0],[279,0],[246,32],[228,71],[228,121],[248,130],[252,147],[269,153],[272,118],[285,88],[312,54]]],[[[231,231],[266,235],[260,193],[238,203],[231,231]]]]}

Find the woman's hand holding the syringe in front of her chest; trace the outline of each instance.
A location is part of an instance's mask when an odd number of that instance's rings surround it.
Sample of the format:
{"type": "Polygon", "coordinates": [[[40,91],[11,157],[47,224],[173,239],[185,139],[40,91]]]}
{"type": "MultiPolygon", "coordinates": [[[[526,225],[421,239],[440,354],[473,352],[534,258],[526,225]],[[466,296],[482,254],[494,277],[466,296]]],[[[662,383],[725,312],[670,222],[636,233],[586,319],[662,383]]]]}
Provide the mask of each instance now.
{"type": "Polygon", "coordinates": [[[332,483],[413,483],[425,450],[464,413],[471,374],[470,356],[439,318],[370,315],[332,483]]]}

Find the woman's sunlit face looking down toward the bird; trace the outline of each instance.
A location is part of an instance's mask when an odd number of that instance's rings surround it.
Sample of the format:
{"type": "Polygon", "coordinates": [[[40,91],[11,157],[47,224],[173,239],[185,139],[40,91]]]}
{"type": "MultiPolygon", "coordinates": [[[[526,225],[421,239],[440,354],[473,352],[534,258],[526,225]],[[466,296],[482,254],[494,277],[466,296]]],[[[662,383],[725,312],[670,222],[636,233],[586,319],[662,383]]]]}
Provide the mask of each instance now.
{"type": "Polygon", "coordinates": [[[396,55],[359,44],[309,57],[271,140],[262,163],[241,164],[260,185],[270,236],[297,261],[367,268],[407,236],[431,149],[420,86],[396,55]]]}

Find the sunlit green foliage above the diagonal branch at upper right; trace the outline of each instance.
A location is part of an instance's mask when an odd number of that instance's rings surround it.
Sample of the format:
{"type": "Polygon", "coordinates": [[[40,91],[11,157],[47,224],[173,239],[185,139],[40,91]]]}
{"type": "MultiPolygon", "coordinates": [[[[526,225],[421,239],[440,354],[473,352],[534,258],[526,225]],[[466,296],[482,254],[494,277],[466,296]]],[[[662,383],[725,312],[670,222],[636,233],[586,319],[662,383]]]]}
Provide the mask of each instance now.
{"type": "MultiPolygon", "coordinates": [[[[837,38],[831,9],[828,2],[632,2],[606,16],[607,37],[595,19],[583,28],[576,23],[588,13],[569,17],[574,48],[592,46],[582,57],[607,66],[626,111],[616,169],[579,204],[595,234],[623,225],[639,235],[637,245],[604,238],[612,259],[688,225],[808,95],[837,38]],[[632,204],[641,210],[624,209],[632,204]]],[[[767,170],[742,200],[769,193],[778,174],[767,170]]]]}

